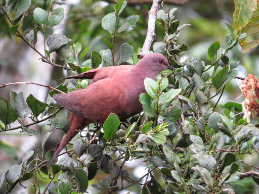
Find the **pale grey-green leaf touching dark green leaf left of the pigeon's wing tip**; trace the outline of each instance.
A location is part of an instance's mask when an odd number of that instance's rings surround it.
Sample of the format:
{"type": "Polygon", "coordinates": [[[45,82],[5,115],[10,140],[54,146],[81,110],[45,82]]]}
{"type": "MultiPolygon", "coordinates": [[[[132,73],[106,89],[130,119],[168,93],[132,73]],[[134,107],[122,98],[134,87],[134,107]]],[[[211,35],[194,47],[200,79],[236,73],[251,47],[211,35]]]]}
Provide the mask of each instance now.
{"type": "Polygon", "coordinates": [[[32,114],[30,108],[24,101],[22,91],[18,94],[14,91],[10,93],[10,104],[12,108],[16,110],[16,113],[22,120],[24,120],[28,115],[32,114]]]}

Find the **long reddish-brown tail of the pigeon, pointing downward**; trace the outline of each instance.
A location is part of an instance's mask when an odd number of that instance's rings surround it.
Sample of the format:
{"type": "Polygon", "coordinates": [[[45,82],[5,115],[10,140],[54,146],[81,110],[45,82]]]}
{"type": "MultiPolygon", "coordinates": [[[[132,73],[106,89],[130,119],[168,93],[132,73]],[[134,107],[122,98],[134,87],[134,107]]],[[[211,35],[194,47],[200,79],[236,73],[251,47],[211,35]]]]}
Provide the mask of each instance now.
{"type": "Polygon", "coordinates": [[[48,165],[48,169],[53,164],[53,162],[57,159],[59,153],[65,148],[66,144],[79,132],[80,129],[83,129],[85,126],[89,125],[91,122],[88,119],[78,117],[75,114],[71,113],[70,116],[71,126],[65,137],[59,142],[56,147],[56,151],[48,165]]]}

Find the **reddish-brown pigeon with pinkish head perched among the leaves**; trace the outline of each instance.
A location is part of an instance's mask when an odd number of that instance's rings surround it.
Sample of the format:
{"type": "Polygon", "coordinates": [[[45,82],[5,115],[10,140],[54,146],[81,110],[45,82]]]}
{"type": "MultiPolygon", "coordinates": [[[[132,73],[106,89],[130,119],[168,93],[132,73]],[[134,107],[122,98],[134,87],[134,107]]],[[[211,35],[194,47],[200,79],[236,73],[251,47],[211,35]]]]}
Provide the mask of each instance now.
{"type": "Polygon", "coordinates": [[[79,130],[90,123],[103,125],[110,113],[115,113],[120,120],[140,113],[143,109],[139,96],[146,93],[145,78],[155,80],[158,73],[166,69],[173,70],[167,59],[162,54],[150,53],[135,66],[109,66],[62,78],[92,79],[93,82],[84,89],[53,95],[57,104],[71,112],[71,125],[56,147],[48,168],[79,130]]]}

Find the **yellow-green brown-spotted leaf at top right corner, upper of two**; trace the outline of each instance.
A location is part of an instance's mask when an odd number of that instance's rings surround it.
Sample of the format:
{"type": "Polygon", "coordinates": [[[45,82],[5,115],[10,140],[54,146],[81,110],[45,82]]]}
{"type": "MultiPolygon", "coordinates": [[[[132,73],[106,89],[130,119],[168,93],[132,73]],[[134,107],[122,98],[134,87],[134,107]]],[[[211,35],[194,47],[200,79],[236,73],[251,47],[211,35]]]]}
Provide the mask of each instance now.
{"type": "Polygon", "coordinates": [[[233,14],[233,26],[240,31],[248,24],[252,12],[257,8],[256,0],[235,0],[235,11],[233,14]]]}

